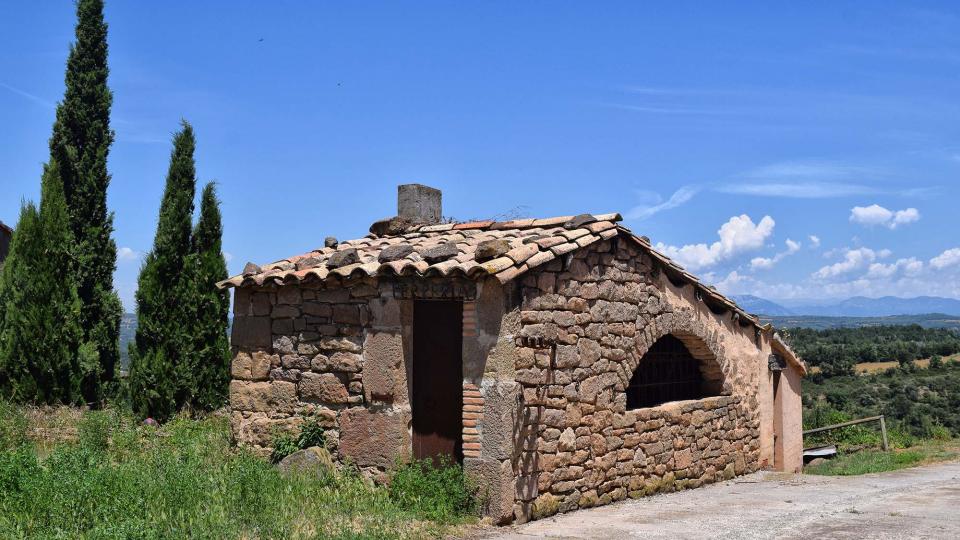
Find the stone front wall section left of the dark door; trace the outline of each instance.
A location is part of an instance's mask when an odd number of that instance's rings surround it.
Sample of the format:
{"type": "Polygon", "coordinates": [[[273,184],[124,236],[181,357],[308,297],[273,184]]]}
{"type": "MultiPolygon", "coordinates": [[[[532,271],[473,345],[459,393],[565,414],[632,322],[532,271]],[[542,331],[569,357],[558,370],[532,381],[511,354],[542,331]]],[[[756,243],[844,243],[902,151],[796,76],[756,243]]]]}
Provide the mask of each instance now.
{"type": "Polygon", "coordinates": [[[400,303],[376,281],[350,287],[237,289],[231,424],[270,452],[278,432],[316,418],[328,445],[361,468],[409,453],[400,303]]]}

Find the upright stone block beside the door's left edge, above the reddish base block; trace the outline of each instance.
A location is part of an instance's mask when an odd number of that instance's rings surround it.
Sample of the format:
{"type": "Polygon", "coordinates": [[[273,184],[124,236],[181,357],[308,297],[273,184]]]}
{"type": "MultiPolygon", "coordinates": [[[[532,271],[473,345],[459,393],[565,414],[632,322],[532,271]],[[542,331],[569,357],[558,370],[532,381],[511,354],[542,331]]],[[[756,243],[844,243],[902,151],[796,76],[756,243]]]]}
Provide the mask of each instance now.
{"type": "Polygon", "coordinates": [[[363,395],[367,401],[405,401],[403,336],[399,332],[368,332],[363,343],[363,395]]]}

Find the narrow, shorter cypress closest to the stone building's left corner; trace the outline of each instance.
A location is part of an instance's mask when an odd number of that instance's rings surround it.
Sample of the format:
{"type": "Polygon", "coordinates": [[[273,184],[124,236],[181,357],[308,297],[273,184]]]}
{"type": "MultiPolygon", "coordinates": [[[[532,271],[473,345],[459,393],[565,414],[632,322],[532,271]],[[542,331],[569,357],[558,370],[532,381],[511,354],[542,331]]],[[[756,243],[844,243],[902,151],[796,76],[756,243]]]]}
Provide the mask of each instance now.
{"type": "Polygon", "coordinates": [[[230,342],[227,339],[229,293],[217,288],[218,281],[229,277],[223,258],[223,225],[220,201],[213,182],[203,188],[200,197],[200,218],[193,230],[194,332],[193,403],[200,409],[213,410],[227,397],[230,384],[230,342]]]}

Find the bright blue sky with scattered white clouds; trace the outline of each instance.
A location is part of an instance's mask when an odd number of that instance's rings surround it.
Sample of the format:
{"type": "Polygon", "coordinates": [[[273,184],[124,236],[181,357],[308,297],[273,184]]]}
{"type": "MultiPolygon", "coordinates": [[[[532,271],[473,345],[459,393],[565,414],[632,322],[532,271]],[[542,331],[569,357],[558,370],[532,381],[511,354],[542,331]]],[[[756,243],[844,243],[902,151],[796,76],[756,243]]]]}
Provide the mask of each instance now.
{"type": "MultiPolygon", "coordinates": [[[[960,7],[705,4],[108,1],[126,308],[181,118],[232,272],[362,236],[421,182],[459,219],[620,211],[730,293],[960,298],[960,7]]],[[[0,21],[10,223],[73,5],[0,21]]]]}

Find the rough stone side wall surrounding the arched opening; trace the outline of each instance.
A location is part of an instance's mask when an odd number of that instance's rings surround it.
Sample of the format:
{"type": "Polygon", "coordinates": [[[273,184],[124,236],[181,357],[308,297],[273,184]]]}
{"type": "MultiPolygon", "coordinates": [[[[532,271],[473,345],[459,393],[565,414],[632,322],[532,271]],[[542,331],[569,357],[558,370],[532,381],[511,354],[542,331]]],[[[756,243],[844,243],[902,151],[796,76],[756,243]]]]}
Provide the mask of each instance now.
{"type": "Polygon", "coordinates": [[[682,289],[616,239],[523,278],[516,519],[757,469],[762,340],[682,289]],[[637,363],[666,334],[724,395],[627,411],[637,363]]]}

